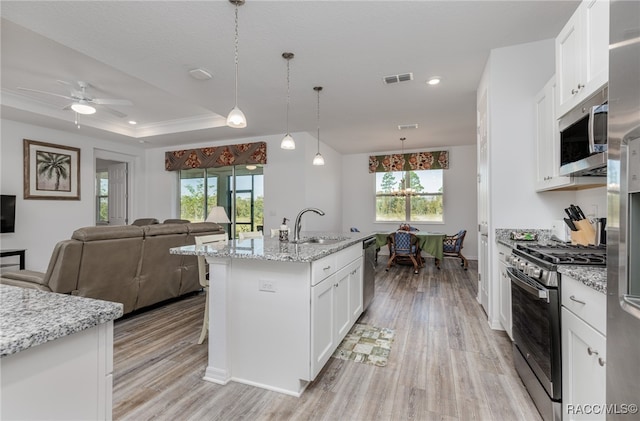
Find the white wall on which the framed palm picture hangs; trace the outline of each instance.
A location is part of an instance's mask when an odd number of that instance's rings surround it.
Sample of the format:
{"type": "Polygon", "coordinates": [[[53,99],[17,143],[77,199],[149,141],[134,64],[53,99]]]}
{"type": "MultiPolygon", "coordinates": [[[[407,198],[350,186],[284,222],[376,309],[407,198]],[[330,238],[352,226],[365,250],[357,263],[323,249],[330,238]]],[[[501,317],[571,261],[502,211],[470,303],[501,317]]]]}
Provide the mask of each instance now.
{"type": "MultiPolygon", "coordinates": [[[[0,247],[27,249],[27,269],[45,271],[58,241],[69,239],[77,228],[95,225],[94,155],[97,149],[130,158],[135,164],[134,171],[144,173],[144,151],[141,148],[89,137],[83,134],[82,129],[70,133],[2,120],[1,133],[0,191],[16,195],[16,232],[0,235],[0,247]],[[80,148],[79,201],[23,199],[23,139],[80,148]]],[[[139,183],[132,188],[142,191],[139,183]]],[[[132,197],[134,211],[139,200],[132,197]]]]}

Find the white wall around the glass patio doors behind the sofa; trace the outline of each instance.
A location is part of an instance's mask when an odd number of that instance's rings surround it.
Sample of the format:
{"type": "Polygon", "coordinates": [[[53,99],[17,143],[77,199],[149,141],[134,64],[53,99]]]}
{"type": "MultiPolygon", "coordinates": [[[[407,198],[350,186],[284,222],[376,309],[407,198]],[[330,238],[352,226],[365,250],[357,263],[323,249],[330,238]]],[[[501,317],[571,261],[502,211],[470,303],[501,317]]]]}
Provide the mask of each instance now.
{"type": "Polygon", "coordinates": [[[307,133],[293,133],[296,149],[280,149],[281,135],[179,145],[147,151],[146,183],[147,213],[160,220],[177,217],[178,182],[175,172],[165,171],[165,152],[248,142],[267,143],[267,164],[264,166],[264,229],[278,228],[282,218],[293,222],[305,207],[318,207],[326,215],[305,215],[303,231],[340,231],[342,203],[340,196],[341,157],[321,143],[324,166],[313,166],[317,151],[316,139],[307,133]],[[159,188],[160,187],[160,188],[159,188]]]}

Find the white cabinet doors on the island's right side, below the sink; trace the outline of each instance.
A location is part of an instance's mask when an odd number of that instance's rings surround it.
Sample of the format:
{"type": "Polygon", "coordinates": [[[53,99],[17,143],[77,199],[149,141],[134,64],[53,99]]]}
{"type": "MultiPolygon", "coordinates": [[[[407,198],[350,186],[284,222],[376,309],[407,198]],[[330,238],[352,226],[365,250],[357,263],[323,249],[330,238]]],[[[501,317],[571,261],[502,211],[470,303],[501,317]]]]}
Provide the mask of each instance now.
{"type": "MultiPolygon", "coordinates": [[[[329,256],[331,257],[331,256],[329,256]]],[[[318,260],[317,267],[327,262],[318,260]]],[[[311,378],[320,372],[340,341],[362,314],[362,247],[341,251],[333,260],[338,270],[312,269],[311,287],[311,378]],[[357,256],[357,257],[356,257],[357,256]],[[355,258],[355,260],[354,260],[355,258]],[[349,261],[349,263],[346,263],[349,261]],[[320,282],[314,276],[324,277],[320,282]]]]}

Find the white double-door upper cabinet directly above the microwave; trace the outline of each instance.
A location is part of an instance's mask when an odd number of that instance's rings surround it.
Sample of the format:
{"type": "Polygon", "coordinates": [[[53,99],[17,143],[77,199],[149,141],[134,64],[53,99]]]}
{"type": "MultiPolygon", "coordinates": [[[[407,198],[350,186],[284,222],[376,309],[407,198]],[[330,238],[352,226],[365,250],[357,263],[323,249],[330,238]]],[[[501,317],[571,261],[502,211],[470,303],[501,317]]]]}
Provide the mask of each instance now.
{"type": "Polygon", "coordinates": [[[609,1],[583,0],[556,38],[556,117],[604,86],[608,68],[609,1]]]}

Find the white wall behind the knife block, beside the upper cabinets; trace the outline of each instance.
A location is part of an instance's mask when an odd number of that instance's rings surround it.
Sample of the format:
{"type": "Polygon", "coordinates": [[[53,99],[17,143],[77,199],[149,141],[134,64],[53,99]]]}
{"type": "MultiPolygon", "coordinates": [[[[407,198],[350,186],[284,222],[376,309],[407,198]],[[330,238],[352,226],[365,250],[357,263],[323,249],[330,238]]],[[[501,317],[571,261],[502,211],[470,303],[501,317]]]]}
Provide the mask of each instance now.
{"type": "Polygon", "coordinates": [[[486,79],[491,242],[496,228],[551,228],[576,201],[574,191],[535,191],[534,97],[554,74],[554,57],[552,39],[491,51],[486,79]]]}

